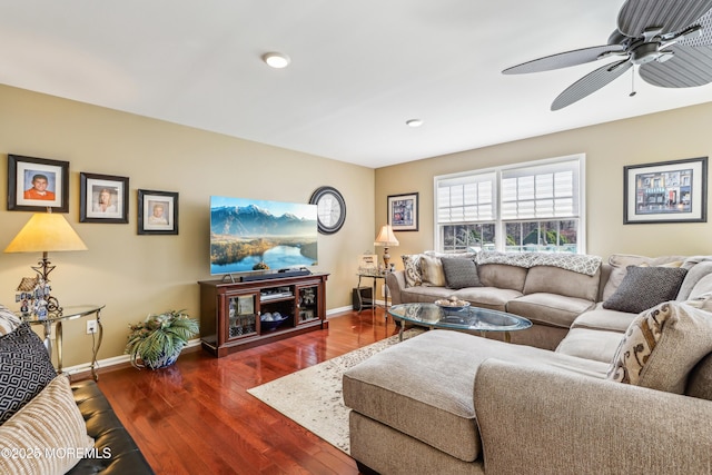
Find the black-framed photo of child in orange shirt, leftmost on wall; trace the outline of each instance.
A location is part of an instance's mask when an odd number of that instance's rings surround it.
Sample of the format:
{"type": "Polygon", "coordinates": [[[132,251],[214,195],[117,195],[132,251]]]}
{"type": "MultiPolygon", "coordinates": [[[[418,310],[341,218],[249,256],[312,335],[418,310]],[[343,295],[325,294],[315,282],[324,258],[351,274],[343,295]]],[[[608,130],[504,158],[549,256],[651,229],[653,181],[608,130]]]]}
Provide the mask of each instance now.
{"type": "Polygon", "coordinates": [[[69,211],[69,161],[8,155],[8,210],[69,211]]]}

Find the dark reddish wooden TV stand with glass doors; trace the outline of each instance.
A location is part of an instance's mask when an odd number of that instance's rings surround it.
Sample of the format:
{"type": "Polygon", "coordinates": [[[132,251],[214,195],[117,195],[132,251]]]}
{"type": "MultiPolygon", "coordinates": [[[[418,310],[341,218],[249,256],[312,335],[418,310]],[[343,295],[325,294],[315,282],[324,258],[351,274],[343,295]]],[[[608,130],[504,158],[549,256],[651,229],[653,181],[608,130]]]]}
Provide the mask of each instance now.
{"type": "Polygon", "coordinates": [[[328,328],[328,274],[264,280],[200,280],[200,343],[215,356],[328,328]],[[269,314],[269,315],[268,315],[269,314]],[[284,321],[266,321],[279,314],[284,321]],[[276,328],[275,328],[276,327],[276,328]]]}

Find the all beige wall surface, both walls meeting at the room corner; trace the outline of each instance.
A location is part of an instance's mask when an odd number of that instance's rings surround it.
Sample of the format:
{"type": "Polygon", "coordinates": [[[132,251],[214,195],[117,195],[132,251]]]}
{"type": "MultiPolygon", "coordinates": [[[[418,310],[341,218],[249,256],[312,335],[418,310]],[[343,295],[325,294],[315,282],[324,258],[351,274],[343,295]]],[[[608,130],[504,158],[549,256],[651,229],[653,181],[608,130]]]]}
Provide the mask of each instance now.
{"type": "MultiPolygon", "coordinates": [[[[238,113],[238,112],[236,112],[238,113]]],[[[319,266],[330,273],[327,307],[350,304],[356,257],[374,249],[386,222],[388,195],[419,192],[419,231],[398,232],[399,256],[433,248],[433,177],[571,154],[586,154],[590,254],[711,254],[711,224],[623,225],[623,166],[709,156],[712,105],[622,120],[377,170],[205,132],[129,113],[0,87],[0,155],[70,162],[68,220],[88,251],[50,258],[55,294],[63,304],[102,303],[106,338],[99,358],[122,354],[129,323],[149,313],[186,308],[198,316],[197,280],[210,278],[208,199],[225,195],[307,202],[319,186],[344,195],[344,228],[319,235],[319,266]],[[79,172],[130,178],[128,225],[79,222],[79,172]],[[138,236],[137,189],[180,194],[179,236],[138,236]]],[[[6,162],[7,164],[7,162],[6,162]]],[[[0,167],[7,197],[7,165],[0,167]]],[[[0,204],[0,247],[31,215],[0,204]]],[[[376,251],[380,255],[382,249],[376,251]]],[[[14,306],[14,288],[40,256],[2,254],[0,303],[14,306]]],[[[91,337],[83,321],[65,327],[67,366],[86,363],[91,337]]]]}

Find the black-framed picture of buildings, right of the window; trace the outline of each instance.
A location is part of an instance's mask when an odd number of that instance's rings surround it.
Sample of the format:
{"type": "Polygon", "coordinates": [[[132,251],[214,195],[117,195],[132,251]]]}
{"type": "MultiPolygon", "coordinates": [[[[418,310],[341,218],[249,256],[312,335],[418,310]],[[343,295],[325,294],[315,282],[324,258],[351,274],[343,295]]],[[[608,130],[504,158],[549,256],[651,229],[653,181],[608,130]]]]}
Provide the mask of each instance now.
{"type": "Polygon", "coordinates": [[[706,222],[708,157],[623,167],[623,224],[706,222]]]}

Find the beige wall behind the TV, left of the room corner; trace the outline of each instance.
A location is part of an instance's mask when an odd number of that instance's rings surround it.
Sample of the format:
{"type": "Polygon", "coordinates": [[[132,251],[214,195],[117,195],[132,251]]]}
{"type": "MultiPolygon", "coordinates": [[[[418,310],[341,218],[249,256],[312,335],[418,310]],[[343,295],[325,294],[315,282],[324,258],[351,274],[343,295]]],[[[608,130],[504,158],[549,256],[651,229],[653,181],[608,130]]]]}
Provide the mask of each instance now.
{"type": "MultiPolygon", "coordinates": [[[[236,111],[235,113],[239,113],[236,111]]],[[[319,186],[346,200],[342,230],[319,235],[318,271],[330,273],[327,308],[350,305],[357,256],[373,249],[374,170],[115,110],[0,87],[0,248],[30,212],[7,210],[7,154],[70,162],[69,222],[88,251],[56,253],[53,294],[63,305],[102,303],[99,358],[123,353],[130,323],[185,308],[199,315],[197,280],[209,279],[209,196],[308,202],[319,186]],[[79,172],[129,177],[129,224],[79,222],[79,172]],[[178,191],[179,235],[137,235],[137,189],[178,191]]],[[[32,276],[39,254],[0,254],[0,303],[32,276]]],[[[65,365],[89,360],[83,320],[65,325],[65,365]]]]}

